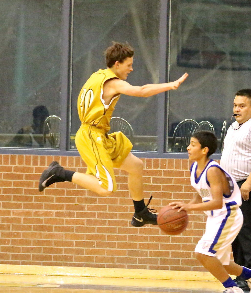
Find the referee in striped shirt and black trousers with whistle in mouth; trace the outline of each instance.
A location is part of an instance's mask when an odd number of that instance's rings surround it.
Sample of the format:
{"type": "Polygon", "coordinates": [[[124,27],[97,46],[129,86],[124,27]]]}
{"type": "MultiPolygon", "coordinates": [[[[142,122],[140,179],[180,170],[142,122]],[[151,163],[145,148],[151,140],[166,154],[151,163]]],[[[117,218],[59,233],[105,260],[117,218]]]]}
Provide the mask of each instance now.
{"type": "MultiPolygon", "coordinates": [[[[235,178],[242,196],[240,209],[243,226],[232,243],[235,263],[251,269],[251,89],[246,88],[235,94],[233,122],[224,139],[220,165],[235,178]]],[[[238,287],[250,292],[247,281],[237,277],[238,287]]],[[[250,284],[249,284],[250,285],[250,284]]]]}

